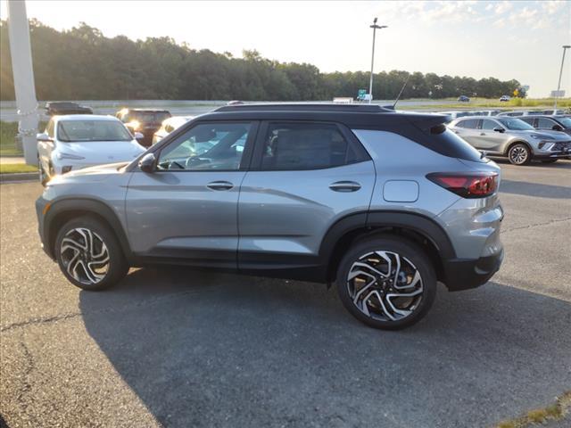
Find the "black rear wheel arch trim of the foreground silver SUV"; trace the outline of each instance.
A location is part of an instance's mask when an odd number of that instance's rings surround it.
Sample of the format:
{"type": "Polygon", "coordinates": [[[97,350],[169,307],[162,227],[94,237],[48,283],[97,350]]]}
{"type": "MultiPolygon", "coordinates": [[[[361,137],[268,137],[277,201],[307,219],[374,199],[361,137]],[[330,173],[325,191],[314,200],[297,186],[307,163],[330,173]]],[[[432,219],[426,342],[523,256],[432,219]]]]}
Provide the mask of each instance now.
{"type": "Polygon", "coordinates": [[[442,226],[422,214],[399,210],[352,214],[331,226],[321,242],[319,258],[327,269],[327,283],[335,281],[336,267],[352,243],[377,234],[396,235],[418,244],[432,260],[441,281],[445,279],[445,261],[456,257],[442,226]]]}

